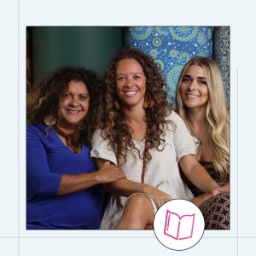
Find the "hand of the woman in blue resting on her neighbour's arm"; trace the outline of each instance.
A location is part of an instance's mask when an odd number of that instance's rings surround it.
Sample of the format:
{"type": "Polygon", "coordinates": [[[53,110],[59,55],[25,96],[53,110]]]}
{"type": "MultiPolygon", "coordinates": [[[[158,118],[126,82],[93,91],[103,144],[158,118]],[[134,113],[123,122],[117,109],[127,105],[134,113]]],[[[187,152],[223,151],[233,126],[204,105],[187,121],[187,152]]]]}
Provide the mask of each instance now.
{"type": "Polygon", "coordinates": [[[118,166],[105,161],[101,168],[96,172],[99,183],[112,183],[120,178],[125,177],[125,174],[120,171],[118,166]]]}

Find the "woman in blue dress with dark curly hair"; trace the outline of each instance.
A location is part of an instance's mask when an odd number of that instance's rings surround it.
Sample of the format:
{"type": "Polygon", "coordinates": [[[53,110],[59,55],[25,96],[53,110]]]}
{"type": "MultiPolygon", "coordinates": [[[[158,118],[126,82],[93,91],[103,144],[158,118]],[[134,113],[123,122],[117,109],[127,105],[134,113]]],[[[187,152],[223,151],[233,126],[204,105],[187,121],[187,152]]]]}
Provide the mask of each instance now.
{"type": "Polygon", "coordinates": [[[98,229],[102,183],[125,177],[108,162],[96,171],[90,159],[100,87],[95,73],[64,67],[28,94],[27,229],[98,229]]]}

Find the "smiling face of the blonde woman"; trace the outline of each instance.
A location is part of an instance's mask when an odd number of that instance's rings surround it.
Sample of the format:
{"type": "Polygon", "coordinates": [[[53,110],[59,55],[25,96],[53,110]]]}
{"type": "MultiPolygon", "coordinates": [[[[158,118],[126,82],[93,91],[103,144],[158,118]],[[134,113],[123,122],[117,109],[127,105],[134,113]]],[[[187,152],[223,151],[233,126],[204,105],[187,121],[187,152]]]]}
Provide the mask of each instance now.
{"type": "Polygon", "coordinates": [[[202,67],[191,65],[183,74],[179,92],[187,108],[207,108],[209,90],[202,67]]]}

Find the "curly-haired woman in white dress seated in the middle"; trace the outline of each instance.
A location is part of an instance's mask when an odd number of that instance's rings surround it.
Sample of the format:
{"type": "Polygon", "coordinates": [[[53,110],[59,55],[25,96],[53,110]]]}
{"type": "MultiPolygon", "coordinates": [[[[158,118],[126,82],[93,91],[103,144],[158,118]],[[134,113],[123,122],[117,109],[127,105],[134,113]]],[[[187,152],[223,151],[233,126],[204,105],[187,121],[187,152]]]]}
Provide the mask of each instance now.
{"type": "Polygon", "coordinates": [[[166,201],[191,200],[178,164],[196,187],[212,195],[222,188],[195,159],[195,143],[183,120],[168,108],[165,82],[152,58],[119,49],[109,62],[102,91],[102,123],[92,139],[97,166],[106,161],[125,174],[106,185],[112,193],[102,229],[152,229],[166,201]]]}

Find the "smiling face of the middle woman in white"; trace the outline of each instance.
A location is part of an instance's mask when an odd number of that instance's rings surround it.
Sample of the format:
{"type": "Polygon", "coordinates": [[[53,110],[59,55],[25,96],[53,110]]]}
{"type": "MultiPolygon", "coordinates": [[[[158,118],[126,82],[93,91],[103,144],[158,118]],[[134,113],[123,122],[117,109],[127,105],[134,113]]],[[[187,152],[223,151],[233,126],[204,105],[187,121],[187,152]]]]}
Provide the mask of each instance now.
{"type": "Polygon", "coordinates": [[[143,107],[146,93],[146,76],[135,59],[123,59],[116,70],[116,92],[125,108],[143,107]]]}

